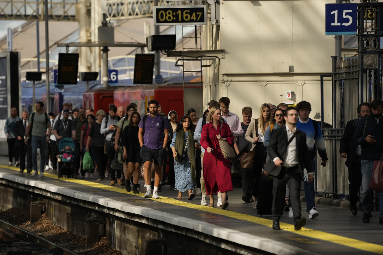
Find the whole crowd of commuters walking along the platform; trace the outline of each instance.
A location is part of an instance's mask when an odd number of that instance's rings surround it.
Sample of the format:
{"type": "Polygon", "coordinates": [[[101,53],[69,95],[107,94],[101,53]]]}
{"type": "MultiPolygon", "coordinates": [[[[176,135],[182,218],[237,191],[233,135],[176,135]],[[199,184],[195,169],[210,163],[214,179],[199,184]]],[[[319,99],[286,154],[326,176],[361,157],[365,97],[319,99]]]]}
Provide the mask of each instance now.
{"type": "MultiPolygon", "coordinates": [[[[265,206],[265,192],[272,197],[270,211],[273,229],[280,229],[283,210],[293,217],[295,229],[306,224],[301,214],[300,189],[303,180],[306,211],[309,219],[319,216],[315,207],[314,175],[318,173],[315,157],[326,166],[327,153],[321,125],[310,119],[311,104],[301,101],[295,107],[281,103],[262,104],[259,118],[253,118],[253,109],[242,109],[242,122],[229,111],[230,99],[221,97],[210,101],[208,109],[198,119],[196,110],[189,109],[183,117],[170,110],[166,115],[158,101],[148,103],[147,114],[141,116],[137,105],[126,109],[111,104],[109,112],[93,109],[72,110],[64,103],[57,116],[44,112],[44,104],[36,103],[36,112],[29,116],[23,111],[21,119],[15,107],[7,119],[9,166],[20,166],[20,172],[38,175],[37,149],[40,148],[40,173],[57,171],[57,154],[62,138],[75,142],[75,167],[84,178],[93,178],[95,168],[98,180],[110,177],[110,185],[125,185],[127,192],[139,193],[140,175],[146,187],[145,198],[159,198],[162,185],[170,185],[183,199],[188,192],[191,200],[201,195],[201,205],[228,207],[228,192],[233,190],[232,172],[241,173],[242,200],[260,210],[265,206]],[[178,118],[180,119],[178,120],[178,118]],[[238,155],[235,160],[226,157],[231,146],[238,155]],[[250,167],[238,164],[243,152],[252,153],[250,167]],[[82,158],[89,152],[94,168],[82,169],[82,158]],[[25,160],[25,156],[27,160],[25,160]],[[169,172],[166,180],[166,166],[169,172]],[[141,172],[140,172],[140,169],[141,172]],[[270,190],[265,190],[272,183],[270,190]],[[209,201],[208,198],[209,197],[209,201]],[[262,201],[262,204],[260,203],[262,201]]],[[[358,106],[358,119],[350,120],[340,141],[340,156],[347,158],[349,169],[349,201],[352,214],[357,214],[358,192],[361,189],[363,223],[370,222],[371,190],[374,161],[383,153],[383,101],[375,99],[371,105],[358,106]]],[[[379,223],[383,224],[383,193],[379,193],[379,223]]]]}

